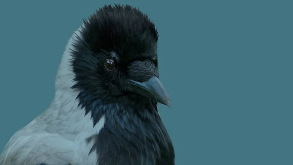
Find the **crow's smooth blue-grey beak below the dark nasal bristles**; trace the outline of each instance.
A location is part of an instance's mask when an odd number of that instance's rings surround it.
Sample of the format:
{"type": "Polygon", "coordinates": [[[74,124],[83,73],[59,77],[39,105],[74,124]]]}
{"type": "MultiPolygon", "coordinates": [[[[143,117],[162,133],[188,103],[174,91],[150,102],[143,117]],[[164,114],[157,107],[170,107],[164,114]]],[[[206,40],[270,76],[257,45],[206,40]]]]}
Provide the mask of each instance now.
{"type": "Polygon", "coordinates": [[[161,104],[167,105],[169,108],[171,107],[169,95],[157,77],[151,77],[144,82],[128,80],[128,86],[131,92],[144,95],[161,104]]]}

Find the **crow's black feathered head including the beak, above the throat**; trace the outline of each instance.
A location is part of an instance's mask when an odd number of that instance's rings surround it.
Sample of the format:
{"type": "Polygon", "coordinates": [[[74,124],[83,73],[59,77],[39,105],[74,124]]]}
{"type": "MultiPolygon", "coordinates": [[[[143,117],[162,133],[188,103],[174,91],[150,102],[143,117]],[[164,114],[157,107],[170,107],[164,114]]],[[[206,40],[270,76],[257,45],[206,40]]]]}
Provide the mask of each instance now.
{"type": "Polygon", "coordinates": [[[157,29],[145,14],[128,5],[105,6],[83,25],[72,50],[73,88],[107,100],[144,97],[170,107],[159,80],[157,29]]]}

